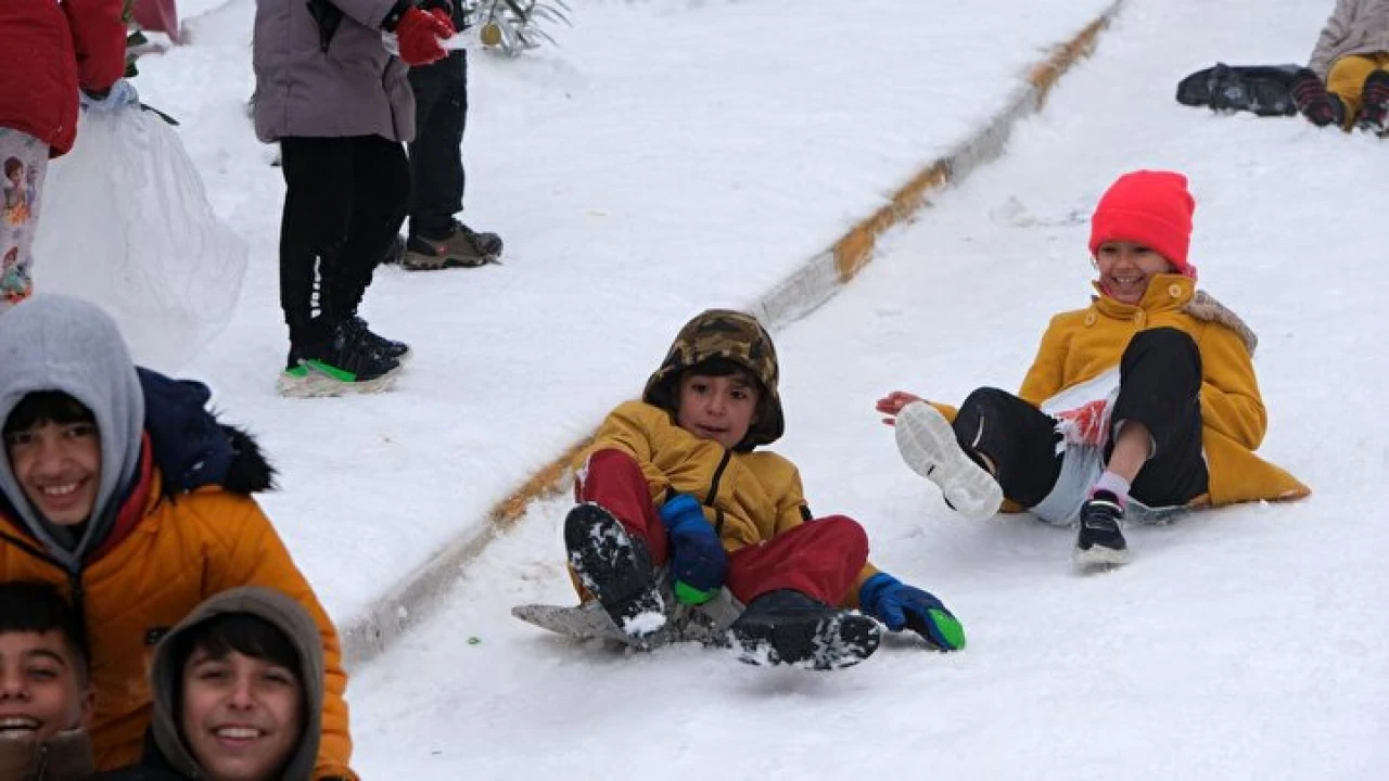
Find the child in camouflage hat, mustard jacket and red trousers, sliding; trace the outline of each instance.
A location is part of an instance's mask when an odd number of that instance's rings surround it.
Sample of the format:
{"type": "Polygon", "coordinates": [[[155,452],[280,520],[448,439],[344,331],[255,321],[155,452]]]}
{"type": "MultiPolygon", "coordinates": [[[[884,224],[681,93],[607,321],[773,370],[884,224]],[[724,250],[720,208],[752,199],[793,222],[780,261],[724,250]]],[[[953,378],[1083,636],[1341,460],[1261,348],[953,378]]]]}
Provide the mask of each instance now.
{"type": "Polygon", "coordinates": [[[785,428],[778,374],[751,315],[708,310],[681,329],[642,400],[613,410],[579,459],[564,541],[585,598],[629,636],[651,636],[665,624],[668,564],[676,600],[726,588],[746,605],[728,632],[745,661],[856,664],[878,648],[874,618],[963,648],[939,599],[868,564],[863,527],[814,518],[796,466],[754,452],[785,428]]]}

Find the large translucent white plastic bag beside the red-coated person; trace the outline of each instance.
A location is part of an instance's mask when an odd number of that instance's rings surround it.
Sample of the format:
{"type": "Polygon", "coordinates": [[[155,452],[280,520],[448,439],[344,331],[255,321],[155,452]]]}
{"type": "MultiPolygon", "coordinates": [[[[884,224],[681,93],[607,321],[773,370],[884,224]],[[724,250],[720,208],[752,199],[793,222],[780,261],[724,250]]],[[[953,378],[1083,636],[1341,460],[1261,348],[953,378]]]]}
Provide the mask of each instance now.
{"type": "Polygon", "coordinates": [[[246,243],[213,213],[178,133],[139,106],[83,111],[49,165],[35,290],[99,304],[136,363],[176,371],[231,320],[246,243]]]}

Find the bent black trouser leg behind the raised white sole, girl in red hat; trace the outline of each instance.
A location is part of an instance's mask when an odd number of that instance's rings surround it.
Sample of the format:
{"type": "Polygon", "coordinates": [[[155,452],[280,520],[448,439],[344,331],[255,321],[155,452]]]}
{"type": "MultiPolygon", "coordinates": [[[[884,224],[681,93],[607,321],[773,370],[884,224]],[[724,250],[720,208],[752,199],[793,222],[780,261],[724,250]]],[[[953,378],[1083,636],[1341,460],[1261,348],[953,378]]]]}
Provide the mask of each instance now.
{"type": "Polygon", "coordinates": [[[965,396],[954,431],[965,453],[993,463],[1003,495],[1024,507],[1046,498],[1061,474],[1056,418],[1007,390],[979,388],[965,396]]]}

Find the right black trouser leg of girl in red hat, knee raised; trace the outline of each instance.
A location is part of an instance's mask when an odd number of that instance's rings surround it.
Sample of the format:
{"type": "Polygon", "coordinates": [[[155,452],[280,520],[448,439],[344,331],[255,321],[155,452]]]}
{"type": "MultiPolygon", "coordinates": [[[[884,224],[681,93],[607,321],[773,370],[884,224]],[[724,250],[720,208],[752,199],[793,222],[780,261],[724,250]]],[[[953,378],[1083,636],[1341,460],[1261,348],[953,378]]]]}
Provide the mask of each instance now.
{"type": "MultiPolygon", "coordinates": [[[[1124,349],[1120,395],[1110,420],[1142,422],[1153,438],[1129,495],[1153,507],[1185,504],[1206,493],[1201,457],[1201,353],[1175,328],[1140,331],[1124,349]]],[[[1108,459],[1113,445],[1106,449],[1108,459]]]]}

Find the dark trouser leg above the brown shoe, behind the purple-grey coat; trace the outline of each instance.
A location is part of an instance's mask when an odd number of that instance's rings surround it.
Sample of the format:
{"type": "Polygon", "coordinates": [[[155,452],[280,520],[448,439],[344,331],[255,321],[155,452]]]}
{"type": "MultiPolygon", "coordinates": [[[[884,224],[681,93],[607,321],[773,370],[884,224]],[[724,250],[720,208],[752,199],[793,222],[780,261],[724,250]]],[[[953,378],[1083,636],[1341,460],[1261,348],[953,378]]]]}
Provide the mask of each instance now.
{"type": "Polygon", "coordinates": [[[415,140],[410,145],[410,235],[444,239],[463,211],[463,131],[468,118],[468,57],[454,51],[410,69],[415,140]]]}

